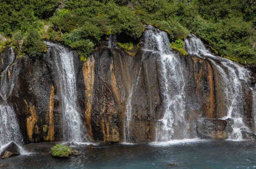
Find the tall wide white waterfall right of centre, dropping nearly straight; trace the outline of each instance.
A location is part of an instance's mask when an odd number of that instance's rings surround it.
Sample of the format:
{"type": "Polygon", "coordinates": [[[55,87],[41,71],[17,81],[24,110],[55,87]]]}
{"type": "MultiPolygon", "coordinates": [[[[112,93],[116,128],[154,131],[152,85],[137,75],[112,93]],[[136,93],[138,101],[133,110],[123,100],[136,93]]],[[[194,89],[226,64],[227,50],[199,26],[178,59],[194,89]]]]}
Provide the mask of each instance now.
{"type": "Polygon", "coordinates": [[[163,76],[164,117],[156,126],[156,141],[187,138],[188,122],[185,120],[185,78],[179,56],[169,46],[166,32],[147,26],[144,33],[144,50],[158,53],[161,57],[163,76]],[[175,133],[174,128],[180,128],[175,133]]]}

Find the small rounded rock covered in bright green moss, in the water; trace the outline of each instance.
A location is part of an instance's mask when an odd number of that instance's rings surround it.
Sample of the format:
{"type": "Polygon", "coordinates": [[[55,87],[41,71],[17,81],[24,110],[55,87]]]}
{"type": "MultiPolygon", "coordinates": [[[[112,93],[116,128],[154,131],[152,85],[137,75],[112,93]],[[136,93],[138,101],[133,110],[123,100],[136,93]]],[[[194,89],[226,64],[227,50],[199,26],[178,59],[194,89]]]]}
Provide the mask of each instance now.
{"type": "Polygon", "coordinates": [[[50,153],[54,157],[68,157],[72,153],[72,149],[67,145],[56,144],[51,148],[50,153]]]}

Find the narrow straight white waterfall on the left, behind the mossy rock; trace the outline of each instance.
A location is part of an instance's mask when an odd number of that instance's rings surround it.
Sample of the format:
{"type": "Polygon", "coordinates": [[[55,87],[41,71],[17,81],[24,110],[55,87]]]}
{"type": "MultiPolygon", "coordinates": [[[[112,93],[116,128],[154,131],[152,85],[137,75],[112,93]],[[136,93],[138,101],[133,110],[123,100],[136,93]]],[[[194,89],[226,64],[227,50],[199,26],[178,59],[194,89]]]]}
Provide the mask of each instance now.
{"type": "Polygon", "coordinates": [[[59,76],[62,105],[62,135],[66,141],[82,142],[85,135],[77,107],[76,74],[73,52],[62,45],[44,42],[54,49],[54,62],[59,76]]]}

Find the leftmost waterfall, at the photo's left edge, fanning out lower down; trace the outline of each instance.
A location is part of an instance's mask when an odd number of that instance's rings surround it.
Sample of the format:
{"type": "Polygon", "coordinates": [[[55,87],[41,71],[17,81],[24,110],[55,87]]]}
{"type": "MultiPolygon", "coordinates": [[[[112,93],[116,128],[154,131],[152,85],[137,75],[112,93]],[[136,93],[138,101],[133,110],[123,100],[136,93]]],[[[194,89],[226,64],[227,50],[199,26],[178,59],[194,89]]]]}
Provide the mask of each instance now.
{"type": "Polygon", "coordinates": [[[0,147],[11,141],[16,142],[17,144],[22,144],[23,142],[12,104],[7,101],[15,86],[15,79],[18,71],[16,65],[11,67],[15,60],[15,54],[12,47],[10,50],[11,55],[8,58],[8,66],[1,73],[0,96],[2,101],[0,101],[0,147]]]}

